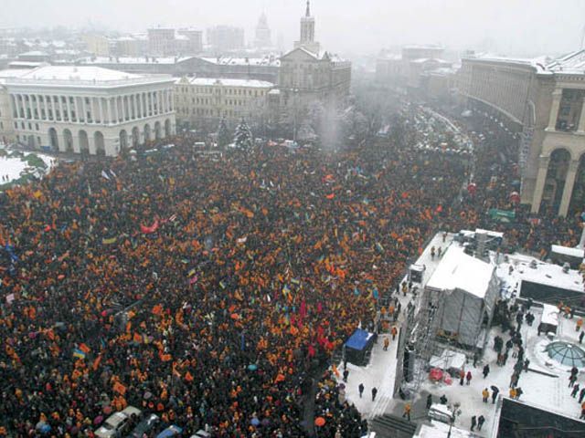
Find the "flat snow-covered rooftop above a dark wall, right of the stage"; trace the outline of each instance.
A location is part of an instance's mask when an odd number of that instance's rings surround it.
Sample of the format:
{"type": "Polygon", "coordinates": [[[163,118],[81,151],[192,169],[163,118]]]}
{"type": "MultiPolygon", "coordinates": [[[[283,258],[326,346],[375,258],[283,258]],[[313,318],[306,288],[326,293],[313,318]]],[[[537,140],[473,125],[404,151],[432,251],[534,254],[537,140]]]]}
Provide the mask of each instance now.
{"type": "Polygon", "coordinates": [[[563,272],[562,266],[553,265],[538,260],[528,255],[509,255],[509,263],[502,263],[498,266],[497,275],[509,285],[520,290],[522,281],[530,281],[550,287],[583,292],[583,279],[579,271],[569,269],[568,273],[563,272]],[[534,261],[537,268],[530,267],[534,261]],[[514,266],[512,274],[508,274],[509,266],[514,266]]]}

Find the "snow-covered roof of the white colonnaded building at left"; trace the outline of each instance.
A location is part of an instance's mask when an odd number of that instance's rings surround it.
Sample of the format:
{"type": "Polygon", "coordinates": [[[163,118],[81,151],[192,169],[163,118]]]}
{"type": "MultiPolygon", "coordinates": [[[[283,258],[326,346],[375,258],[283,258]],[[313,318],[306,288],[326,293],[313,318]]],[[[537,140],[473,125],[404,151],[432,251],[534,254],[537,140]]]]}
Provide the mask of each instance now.
{"type": "Polygon", "coordinates": [[[7,78],[7,85],[40,86],[112,86],[134,83],[170,81],[167,75],[134,75],[109,68],[89,66],[44,66],[28,70],[18,78],[7,78]]]}

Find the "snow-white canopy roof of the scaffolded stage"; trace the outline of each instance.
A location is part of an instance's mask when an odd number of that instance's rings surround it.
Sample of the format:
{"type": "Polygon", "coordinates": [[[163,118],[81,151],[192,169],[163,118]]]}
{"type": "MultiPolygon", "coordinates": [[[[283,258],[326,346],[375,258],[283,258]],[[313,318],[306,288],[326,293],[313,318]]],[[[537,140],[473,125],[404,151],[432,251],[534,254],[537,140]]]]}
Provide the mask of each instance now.
{"type": "Polygon", "coordinates": [[[463,247],[451,245],[434,274],[429,279],[427,287],[434,289],[461,289],[475,297],[483,298],[492,279],[495,266],[466,255],[463,247]]]}

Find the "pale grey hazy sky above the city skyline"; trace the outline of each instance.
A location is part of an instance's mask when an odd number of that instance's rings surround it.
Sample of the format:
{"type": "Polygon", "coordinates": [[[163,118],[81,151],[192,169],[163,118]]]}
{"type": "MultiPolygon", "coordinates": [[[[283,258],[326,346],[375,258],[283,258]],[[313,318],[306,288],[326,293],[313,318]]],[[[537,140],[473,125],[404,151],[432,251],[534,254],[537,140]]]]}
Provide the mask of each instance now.
{"type": "MultiPolygon", "coordinates": [[[[263,10],[273,38],[298,38],[303,0],[2,0],[0,26],[241,26],[246,40],[263,10]]],[[[585,0],[313,0],[316,39],[341,53],[441,43],[539,55],[580,48],[585,0]]]]}

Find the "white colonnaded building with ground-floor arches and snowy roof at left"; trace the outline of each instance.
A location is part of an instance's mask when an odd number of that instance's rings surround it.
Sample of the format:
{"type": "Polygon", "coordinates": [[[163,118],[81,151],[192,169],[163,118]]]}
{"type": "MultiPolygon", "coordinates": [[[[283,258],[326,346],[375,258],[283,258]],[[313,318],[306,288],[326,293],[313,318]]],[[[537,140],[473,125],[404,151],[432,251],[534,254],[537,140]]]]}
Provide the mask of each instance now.
{"type": "Polygon", "coordinates": [[[56,66],[5,78],[3,92],[12,117],[5,132],[13,136],[8,141],[31,149],[116,156],[164,139],[175,133],[174,80],[56,66]]]}

